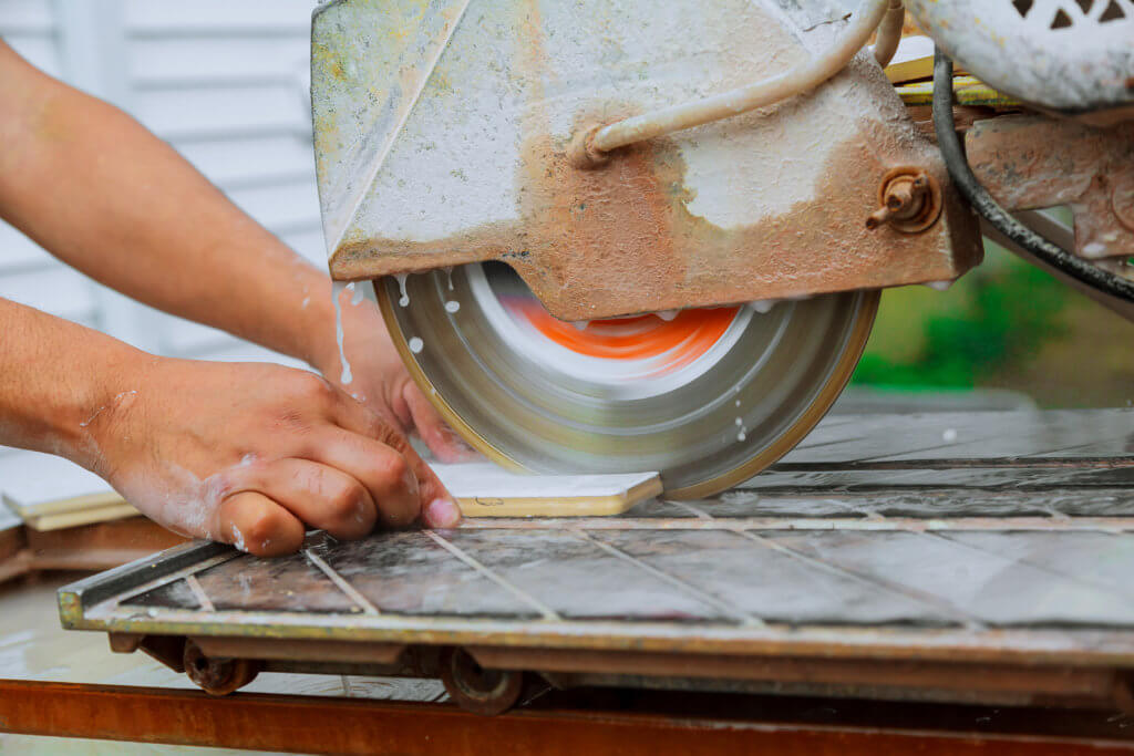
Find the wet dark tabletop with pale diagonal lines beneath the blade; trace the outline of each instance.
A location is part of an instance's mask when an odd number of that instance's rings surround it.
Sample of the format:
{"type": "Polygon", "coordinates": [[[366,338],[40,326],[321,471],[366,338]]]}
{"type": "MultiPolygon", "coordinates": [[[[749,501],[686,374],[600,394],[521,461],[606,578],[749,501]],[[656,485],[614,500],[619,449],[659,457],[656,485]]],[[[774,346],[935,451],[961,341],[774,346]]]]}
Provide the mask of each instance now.
{"type": "MultiPolygon", "coordinates": [[[[218,610],[298,614],[1134,627],[1120,579],[1134,574],[1132,475],[1126,410],[840,416],[711,499],[355,543],[315,535],[304,553],[242,555],[198,578],[218,610]]],[[[125,596],[121,612],[141,606],[196,600],[178,580],[125,596]]]]}

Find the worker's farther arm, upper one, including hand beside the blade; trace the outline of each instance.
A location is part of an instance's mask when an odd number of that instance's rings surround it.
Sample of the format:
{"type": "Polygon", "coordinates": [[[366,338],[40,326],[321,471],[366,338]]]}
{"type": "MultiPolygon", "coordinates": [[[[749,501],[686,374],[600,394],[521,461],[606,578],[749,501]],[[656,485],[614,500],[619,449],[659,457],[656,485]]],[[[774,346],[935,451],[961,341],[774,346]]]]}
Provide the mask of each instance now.
{"type": "Polygon", "coordinates": [[[373,305],[344,307],[355,377],[341,385],[327,274],[133,118],[2,42],[0,216],[122,294],[307,362],[391,423],[416,428],[441,459],[465,453],[409,380],[373,305]]]}

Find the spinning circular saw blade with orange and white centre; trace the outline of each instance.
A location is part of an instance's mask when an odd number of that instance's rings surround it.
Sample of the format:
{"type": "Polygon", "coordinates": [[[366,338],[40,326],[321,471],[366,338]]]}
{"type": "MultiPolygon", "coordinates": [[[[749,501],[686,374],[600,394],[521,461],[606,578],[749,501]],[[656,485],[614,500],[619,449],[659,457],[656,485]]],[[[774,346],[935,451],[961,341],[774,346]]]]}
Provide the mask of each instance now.
{"type": "Polygon", "coordinates": [[[387,277],[375,292],[414,380],[479,451],[538,473],[657,470],[685,499],[747,479],[814,427],[879,299],[564,323],[501,263],[387,277]]]}

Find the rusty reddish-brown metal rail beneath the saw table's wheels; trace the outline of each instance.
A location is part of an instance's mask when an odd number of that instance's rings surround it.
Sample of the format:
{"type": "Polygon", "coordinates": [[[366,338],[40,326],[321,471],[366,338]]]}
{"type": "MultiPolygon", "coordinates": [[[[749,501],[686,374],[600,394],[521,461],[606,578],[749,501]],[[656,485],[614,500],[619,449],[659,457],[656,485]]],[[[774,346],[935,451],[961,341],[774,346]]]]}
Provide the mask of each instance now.
{"type": "Polygon", "coordinates": [[[1098,713],[1068,719],[1022,710],[747,700],[665,696],[618,705],[591,694],[500,716],[452,705],[311,696],[204,694],[129,686],[0,680],[0,730],[12,733],[333,754],[874,754],[1041,756],[1128,754],[1120,723],[1098,713]],[[611,704],[615,704],[613,706],[611,704]],[[621,710],[621,711],[619,711],[621,710]],[[644,710],[644,711],[642,711],[644,710]],[[708,713],[712,712],[712,713],[708,713]],[[759,719],[752,712],[760,712],[759,719]],[[816,715],[818,713],[818,715],[816,715]]]}

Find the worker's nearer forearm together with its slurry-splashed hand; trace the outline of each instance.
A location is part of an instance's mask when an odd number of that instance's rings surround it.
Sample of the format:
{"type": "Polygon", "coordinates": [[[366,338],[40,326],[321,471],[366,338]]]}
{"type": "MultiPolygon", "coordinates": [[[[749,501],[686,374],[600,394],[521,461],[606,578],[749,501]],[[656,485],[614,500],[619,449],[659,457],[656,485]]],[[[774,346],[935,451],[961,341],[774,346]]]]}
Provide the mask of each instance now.
{"type": "Polygon", "coordinates": [[[459,519],[405,436],[313,373],[154,357],[7,299],[0,334],[0,444],[67,457],[175,530],[272,555],[305,524],[459,519]]]}

